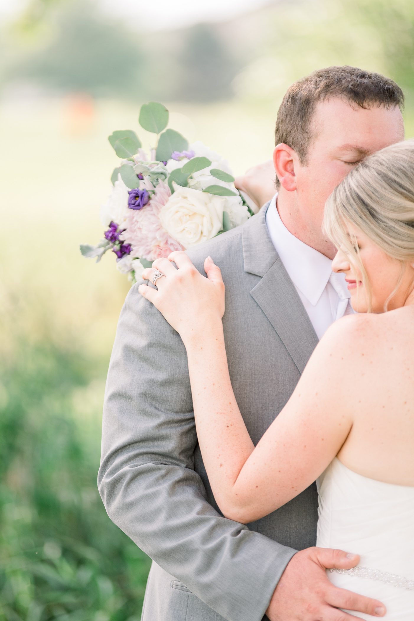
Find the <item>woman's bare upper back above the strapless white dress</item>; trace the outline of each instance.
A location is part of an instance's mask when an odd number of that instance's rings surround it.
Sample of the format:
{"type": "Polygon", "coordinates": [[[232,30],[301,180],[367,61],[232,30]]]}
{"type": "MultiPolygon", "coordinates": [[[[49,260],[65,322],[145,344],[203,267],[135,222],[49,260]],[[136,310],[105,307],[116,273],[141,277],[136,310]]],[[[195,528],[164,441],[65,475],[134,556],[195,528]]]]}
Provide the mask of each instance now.
{"type": "Polygon", "coordinates": [[[333,402],[353,419],[338,458],[371,479],[414,486],[414,307],[351,321],[349,368],[332,381],[333,402]]]}

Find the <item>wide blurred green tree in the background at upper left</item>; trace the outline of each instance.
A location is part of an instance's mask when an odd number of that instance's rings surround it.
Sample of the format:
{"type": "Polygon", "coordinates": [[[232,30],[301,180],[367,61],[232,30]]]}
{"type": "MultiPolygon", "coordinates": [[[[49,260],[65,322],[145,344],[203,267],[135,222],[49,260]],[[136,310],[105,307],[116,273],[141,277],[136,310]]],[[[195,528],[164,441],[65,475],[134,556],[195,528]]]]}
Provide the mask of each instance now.
{"type": "Polygon", "coordinates": [[[59,91],[122,99],[143,93],[143,64],[131,32],[76,2],[59,12],[53,42],[9,68],[9,74],[59,91]]]}

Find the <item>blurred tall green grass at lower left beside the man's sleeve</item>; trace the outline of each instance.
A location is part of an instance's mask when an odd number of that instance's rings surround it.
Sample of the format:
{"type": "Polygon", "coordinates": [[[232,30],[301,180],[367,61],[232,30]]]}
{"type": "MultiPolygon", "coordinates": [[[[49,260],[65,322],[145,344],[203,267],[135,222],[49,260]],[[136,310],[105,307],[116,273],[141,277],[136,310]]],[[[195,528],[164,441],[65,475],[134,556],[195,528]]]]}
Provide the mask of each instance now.
{"type": "Polygon", "coordinates": [[[148,557],[96,487],[105,361],[43,339],[0,359],[1,621],[138,621],[148,557]]]}

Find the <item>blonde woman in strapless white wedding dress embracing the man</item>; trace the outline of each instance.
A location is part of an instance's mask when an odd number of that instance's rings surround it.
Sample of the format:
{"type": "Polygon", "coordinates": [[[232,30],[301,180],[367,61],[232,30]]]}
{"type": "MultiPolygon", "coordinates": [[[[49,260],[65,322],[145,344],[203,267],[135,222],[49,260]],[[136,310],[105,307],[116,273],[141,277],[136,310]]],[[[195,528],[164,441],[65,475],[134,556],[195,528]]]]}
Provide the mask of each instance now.
{"type": "Polygon", "coordinates": [[[174,252],[144,271],[157,290],[139,292],[187,349],[198,440],[222,514],[248,524],[317,479],[317,545],[361,557],[330,580],[384,602],[386,619],[412,621],[414,141],[356,166],[329,197],[324,230],[358,314],[328,329],[256,447],[229,378],[218,266],[207,258],[205,278],[174,252]]]}

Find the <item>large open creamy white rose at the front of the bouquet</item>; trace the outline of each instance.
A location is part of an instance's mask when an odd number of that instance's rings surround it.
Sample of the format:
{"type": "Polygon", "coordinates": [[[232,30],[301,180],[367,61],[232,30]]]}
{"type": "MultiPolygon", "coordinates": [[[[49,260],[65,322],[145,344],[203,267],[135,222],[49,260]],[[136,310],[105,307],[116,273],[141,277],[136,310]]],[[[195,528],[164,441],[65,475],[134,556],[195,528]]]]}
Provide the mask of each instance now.
{"type": "Polygon", "coordinates": [[[222,229],[226,198],[192,188],[182,188],[173,181],[174,194],[159,214],[162,227],[184,248],[211,239],[222,229]]]}

